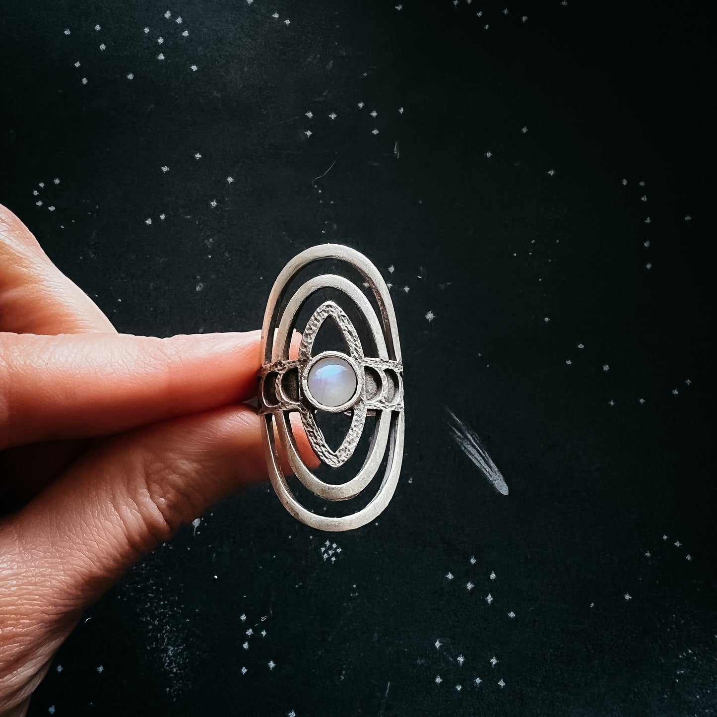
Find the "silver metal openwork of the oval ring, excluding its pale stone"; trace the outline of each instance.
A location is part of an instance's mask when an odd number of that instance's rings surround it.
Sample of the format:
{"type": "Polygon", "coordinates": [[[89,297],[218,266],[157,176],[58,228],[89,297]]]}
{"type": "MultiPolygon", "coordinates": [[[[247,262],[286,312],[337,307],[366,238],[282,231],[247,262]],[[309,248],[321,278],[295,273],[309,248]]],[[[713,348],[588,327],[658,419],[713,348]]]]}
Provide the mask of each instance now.
{"type": "Polygon", "coordinates": [[[269,477],[284,507],[298,521],[323,531],[348,531],[374,520],[396,490],[401,472],[404,443],[403,364],[396,315],[389,288],[379,270],[361,253],[341,244],[320,244],[310,247],[293,258],[274,283],[262,327],[262,369],[260,372],[259,412],[262,417],[262,437],[269,477]],[[377,315],[366,295],[353,282],[341,276],[324,274],[304,282],[282,308],[288,287],[304,267],[326,259],[348,263],[361,272],[379,306],[377,315]],[[321,304],[303,328],[297,359],[289,358],[289,348],[295,322],[306,301],[317,291],[333,288],[348,298],[363,316],[374,342],[376,356],[366,355],[364,346],[351,319],[338,303],[321,304]],[[323,322],[336,321],[346,339],[348,354],[324,351],[312,356],[314,340],[323,322]],[[320,404],[308,387],[311,366],[323,356],[338,356],[356,372],[356,391],[348,402],[338,407],[320,404]],[[326,443],[315,412],[351,412],[351,427],[341,446],[332,450],[326,443]],[[334,485],[316,478],[301,459],[290,412],[298,412],[306,436],[316,456],[326,465],[338,467],[353,455],[364,430],[366,415],[376,414],[376,427],[371,437],[369,453],[359,473],[346,483],[334,485]],[[308,490],[326,500],[348,500],[366,488],[386,460],[386,473],[371,502],[349,516],[331,518],[312,513],[301,505],[289,490],[282,473],[276,437],[288,464],[308,490]]]}

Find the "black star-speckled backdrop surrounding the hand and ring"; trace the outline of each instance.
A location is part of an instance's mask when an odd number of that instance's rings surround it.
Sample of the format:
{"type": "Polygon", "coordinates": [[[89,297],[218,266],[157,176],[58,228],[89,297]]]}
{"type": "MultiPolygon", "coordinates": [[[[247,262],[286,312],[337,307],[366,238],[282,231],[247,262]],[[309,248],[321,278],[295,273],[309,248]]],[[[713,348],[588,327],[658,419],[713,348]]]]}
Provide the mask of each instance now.
{"type": "Polygon", "coordinates": [[[406,365],[376,525],[331,564],[266,485],[227,500],[87,613],[31,715],[715,713],[706,11],[2,12],[0,201],[119,331],[256,328],[336,241],[393,283],[406,365]]]}

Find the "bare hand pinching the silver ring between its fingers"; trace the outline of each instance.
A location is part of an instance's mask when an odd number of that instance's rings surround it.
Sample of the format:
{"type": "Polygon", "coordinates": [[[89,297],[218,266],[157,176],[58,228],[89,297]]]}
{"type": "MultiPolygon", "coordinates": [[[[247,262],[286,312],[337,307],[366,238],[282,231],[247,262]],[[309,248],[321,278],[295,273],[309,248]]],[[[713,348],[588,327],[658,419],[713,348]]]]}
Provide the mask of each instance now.
{"type": "Polygon", "coordinates": [[[118,334],[0,205],[0,497],[27,501],[0,519],[0,717],[131,565],[266,477],[259,342],[118,334]]]}

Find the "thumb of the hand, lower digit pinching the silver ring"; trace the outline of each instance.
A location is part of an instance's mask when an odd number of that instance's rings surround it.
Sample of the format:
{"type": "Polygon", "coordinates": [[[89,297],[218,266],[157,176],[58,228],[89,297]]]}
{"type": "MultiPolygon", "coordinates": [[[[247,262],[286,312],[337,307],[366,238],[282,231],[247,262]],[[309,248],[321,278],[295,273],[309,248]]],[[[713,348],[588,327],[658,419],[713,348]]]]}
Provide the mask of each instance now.
{"type": "Polygon", "coordinates": [[[35,599],[81,612],[157,543],[266,474],[260,418],[245,404],[101,441],[12,518],[35,599]]]}

